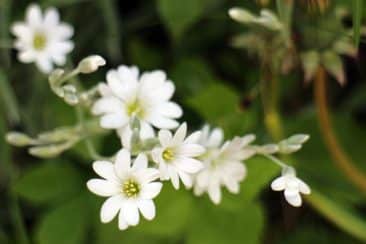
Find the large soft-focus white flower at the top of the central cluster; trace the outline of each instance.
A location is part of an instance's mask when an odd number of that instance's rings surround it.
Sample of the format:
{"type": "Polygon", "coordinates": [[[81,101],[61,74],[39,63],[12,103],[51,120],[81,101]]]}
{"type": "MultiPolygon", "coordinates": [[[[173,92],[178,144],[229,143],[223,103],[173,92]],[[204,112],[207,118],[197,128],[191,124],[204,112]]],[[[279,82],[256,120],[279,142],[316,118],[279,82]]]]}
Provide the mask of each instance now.
{"type": "Polygon", "coordinates": [[[163,71],[139,76],[137,67],[122,65],[107,73],[107,85],[100,85],[102,97],[92,111],[102,115],[100,124],[107,129],[123,130],[134,117],[143,134],[151,134],[152,126],[173,129],[179,125],[175,119],[182,116],[182,109],[169,101],[174,90],[163,71]]]}

